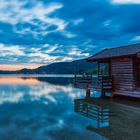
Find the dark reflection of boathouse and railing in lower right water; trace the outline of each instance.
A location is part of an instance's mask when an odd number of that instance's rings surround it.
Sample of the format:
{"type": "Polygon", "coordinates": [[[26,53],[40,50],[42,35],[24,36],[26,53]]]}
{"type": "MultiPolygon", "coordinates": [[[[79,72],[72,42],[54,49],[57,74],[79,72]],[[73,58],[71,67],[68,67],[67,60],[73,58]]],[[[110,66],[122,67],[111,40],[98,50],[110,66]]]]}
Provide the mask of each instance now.
{"type": "Polygon", "coordinates": [[[92,120],[85,129],[111,140],[140,139],[139,102],[121,99],[75,99],[74,102],[74,111],[92,120]]]}

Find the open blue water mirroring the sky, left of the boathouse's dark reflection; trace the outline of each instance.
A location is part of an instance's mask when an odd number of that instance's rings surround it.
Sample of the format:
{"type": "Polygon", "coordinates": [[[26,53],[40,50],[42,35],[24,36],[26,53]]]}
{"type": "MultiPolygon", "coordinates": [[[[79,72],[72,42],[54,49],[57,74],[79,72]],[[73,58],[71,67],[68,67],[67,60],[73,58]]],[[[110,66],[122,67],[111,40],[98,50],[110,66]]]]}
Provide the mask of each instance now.
{"type": "Polygon", "coordinates": [[[73,88],[71,78],[0,81],[0,139],[105,139],[85,129],[91,120],[74,113],[73,100],[84,97],[85,90],[73,88]]]}

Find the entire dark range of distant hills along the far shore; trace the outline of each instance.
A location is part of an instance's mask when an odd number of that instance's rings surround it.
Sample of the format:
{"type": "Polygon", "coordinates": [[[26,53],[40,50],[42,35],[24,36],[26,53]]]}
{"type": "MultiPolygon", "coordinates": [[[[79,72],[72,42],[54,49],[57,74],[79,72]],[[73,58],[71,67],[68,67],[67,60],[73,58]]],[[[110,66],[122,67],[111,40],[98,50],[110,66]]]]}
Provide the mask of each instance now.
{"type": "Polygon", "coordinates": [[[87,62],[85,59],[72,62],[58,62],[36,69],[22,69],[18,71],[0,71],[0,74],[77,74],[96,68],[96,63],[87,62]]]}

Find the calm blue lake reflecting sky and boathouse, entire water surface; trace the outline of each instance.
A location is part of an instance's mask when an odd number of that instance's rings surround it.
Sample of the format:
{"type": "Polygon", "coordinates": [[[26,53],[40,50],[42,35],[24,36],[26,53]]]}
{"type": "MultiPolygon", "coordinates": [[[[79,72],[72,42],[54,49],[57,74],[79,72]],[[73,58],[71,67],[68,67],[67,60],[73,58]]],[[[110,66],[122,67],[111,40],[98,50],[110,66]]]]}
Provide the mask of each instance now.
{"type": "Polygon", "coordinates": [[[72,75],[1,76],[0,139],[140,139],[140,104],[95,94],[85,99],[72,75]]]}

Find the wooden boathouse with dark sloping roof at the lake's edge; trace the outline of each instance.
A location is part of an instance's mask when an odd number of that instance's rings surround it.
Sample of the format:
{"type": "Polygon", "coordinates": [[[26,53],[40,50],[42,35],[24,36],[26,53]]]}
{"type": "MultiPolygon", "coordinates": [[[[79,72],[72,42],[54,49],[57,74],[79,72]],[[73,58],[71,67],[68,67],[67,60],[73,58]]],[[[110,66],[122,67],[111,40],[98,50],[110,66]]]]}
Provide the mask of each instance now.
{"type": "Polygon", "coordinates": [[[140,43],[104,49],[87,61],[98,64],[102,93],[110,89],[112,96],[140,98],[140,43]],[[108,75],[101,74],[102,64],[108,67],[108,75]]]}

